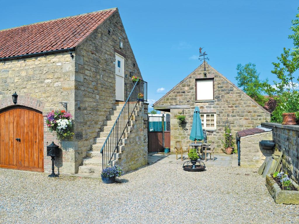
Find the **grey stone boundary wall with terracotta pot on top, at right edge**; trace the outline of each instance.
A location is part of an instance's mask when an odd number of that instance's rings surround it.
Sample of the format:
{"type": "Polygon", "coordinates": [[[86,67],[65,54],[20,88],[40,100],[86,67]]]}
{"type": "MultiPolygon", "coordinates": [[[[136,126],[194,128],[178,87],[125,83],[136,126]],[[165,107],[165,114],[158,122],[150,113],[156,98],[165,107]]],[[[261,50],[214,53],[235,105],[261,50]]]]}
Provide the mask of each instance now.
{"type": "Polygon", "coordinates": [[[283,152],[283,171],[299,183],[299,125],[262,123],[265,128],[273,128],[275,148],[283,152]]]}

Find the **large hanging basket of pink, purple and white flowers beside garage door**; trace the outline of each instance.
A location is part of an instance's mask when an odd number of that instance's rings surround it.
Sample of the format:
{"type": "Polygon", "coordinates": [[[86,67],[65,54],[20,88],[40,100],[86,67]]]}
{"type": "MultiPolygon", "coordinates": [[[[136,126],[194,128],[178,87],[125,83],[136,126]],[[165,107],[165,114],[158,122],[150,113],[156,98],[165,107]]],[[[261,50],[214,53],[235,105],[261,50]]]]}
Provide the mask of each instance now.
{"type": "Polygon", "coordinates": [[[65,110],[51,111],[47,115],[47,127],[50,132],[56,133],[57,139],[70,139],[74,135],[74,132],[71,131],[73,126],[71,118],[71,114],[65,110]]]}

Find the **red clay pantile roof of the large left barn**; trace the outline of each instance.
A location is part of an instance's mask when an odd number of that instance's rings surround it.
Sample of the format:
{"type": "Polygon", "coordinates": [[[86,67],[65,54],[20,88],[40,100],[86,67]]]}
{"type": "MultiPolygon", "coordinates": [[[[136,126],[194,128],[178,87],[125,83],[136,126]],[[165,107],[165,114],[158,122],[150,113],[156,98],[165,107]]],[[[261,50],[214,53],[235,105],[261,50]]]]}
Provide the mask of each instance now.
{"type": "Polygon", "coordinates": [[[0,30],[0,58],[75,47],[116,10],[0,30]]]}

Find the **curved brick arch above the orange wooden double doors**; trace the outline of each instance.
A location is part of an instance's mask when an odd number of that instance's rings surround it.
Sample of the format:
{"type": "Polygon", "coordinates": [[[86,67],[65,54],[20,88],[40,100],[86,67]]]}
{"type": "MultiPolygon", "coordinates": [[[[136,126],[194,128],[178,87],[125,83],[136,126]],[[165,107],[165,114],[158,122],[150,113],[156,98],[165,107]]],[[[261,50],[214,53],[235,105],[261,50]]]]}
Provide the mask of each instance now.
{"type": "MultiPolygon", "coordinates": [[[[40,112],[44,112],[45,102],[42,100],[39,100],[37,98],[34,98],[32,96],[18,96],[18,101],[16,105],[25,106],[29,108],[33,108],[35,110],[38,110],[40,112]]],[[[13,98],[11,96],[5,97],[0,100],[0,110],[10,107],[10,106],[16,106],[13,103],[13,98]]]]}

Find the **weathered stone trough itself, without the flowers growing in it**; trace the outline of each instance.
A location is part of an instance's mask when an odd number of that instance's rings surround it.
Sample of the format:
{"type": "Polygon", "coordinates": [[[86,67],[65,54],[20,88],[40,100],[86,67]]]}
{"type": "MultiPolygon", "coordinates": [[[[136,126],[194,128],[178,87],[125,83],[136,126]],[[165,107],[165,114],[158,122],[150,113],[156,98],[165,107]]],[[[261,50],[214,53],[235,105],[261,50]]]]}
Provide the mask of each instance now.
{"type": "Polygon", "coordinates": [[[277,204],[299,205],[299,185],[291,179],[292,184],[298,191],[283,191],[270,174],[266,176],[266,186],[277,204]]]}

